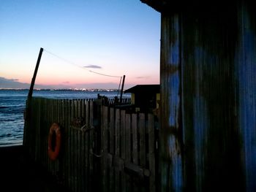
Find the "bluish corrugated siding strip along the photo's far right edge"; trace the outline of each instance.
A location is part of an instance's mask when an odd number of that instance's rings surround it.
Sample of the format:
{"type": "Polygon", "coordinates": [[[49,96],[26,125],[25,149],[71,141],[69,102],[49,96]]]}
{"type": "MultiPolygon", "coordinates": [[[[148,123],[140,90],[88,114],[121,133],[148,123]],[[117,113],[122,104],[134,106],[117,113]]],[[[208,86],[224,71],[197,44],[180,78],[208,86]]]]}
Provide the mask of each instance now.
{"type": "Polygon", "coordinates": [[[237,113],[246,191],[256,191],[256,18],[252,7],[244,3],[239,9],[241,38],[236,47],[237,113]]]}

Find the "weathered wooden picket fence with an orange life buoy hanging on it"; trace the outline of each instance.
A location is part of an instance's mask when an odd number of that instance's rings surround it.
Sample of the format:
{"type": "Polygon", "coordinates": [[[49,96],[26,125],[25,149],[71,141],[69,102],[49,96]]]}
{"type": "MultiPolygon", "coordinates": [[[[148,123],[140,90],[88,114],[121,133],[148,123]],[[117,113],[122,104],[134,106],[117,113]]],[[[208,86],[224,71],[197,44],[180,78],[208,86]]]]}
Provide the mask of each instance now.
{"type": "Polygon", "coordinates": [[[70,191],[157,191],[157,122],[151,114],[86,99],[33,98],[23,145],[31,158],[70,191]],[[52,123],[61,126],[61,153],[48,157],[52,123]]]}

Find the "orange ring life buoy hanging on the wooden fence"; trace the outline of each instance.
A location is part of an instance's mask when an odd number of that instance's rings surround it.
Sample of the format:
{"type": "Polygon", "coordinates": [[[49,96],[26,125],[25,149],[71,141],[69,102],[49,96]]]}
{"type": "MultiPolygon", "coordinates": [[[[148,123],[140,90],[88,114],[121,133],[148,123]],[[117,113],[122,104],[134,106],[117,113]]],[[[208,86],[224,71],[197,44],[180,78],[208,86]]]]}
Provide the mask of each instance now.
{"type": "Polygon", "coordinates": [[[48,156],[51,160],[56,160],[59,156],[61,149],[61,131],[58,123],[53,123],[50,126],[48,135],[48,156]],[[53,132],[55,132],[55,138],[53,138],[53,132]],[[53,145],[53,139],[55,139],[55,145],[53,145]]]}

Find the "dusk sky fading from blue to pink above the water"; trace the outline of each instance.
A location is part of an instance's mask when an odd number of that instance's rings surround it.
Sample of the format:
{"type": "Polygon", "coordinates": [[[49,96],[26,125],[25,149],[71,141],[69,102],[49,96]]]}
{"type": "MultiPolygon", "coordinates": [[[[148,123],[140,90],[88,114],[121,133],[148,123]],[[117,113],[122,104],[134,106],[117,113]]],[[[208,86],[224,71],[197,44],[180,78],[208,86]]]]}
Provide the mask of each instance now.
{"type": "Polygon", "coordinates": [[[160,13],[140,0],[1,0],[0,88],[159,84],[160,13]],[[113,77],[112,77],[113,76],[113,77]]]}

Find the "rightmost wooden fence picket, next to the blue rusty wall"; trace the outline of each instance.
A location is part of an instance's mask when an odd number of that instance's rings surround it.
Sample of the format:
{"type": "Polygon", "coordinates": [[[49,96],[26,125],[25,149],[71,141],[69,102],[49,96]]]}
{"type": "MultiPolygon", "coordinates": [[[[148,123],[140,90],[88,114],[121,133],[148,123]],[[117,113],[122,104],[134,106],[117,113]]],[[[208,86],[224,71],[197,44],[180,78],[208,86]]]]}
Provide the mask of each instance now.
{"type": "Polygon", "coordinates": [[[155,166],[155,139],[154,115],[148,114],[148,166],[151,172],[149,177],[149,191],[156,191],[156,166],[155,166]]]}

